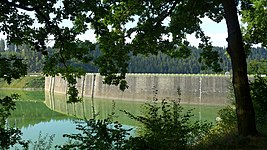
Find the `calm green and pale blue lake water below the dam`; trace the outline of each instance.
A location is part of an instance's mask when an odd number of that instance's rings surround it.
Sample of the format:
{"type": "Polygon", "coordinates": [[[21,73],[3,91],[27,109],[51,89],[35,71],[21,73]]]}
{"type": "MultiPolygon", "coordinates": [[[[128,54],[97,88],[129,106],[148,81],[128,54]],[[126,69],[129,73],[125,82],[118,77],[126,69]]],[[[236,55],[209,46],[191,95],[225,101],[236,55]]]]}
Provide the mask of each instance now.
{"type": "MultiPolygon", "coordinates": [[[[0,98],[11,93],[21,95],[16,102],[16,110],[8,118],[10,126],[18,127],[23,132],[23,139],[37,141],[39,135],[42,137],[55,135],[53,144],[63,144],[67,139],[62,135],[66,133],[77,133],[75,120],[78,118],[92,118],[93,112],[97,119],[104,119],[113,110],[116,117],[114,120],[124,124],[125,127],[136,127],[137,122],[131,120],[120,110],[126,110],[134,115],[143,114],[145,102],[133,102],[124,100],[84,98],[82,103],[67,104],[67,96],[64,94],[45,93],[43,91],[9,91],[0,90],[0,98]],[[115,105],[115,106],[114,106],[115,105]],[[93,107],[94,106],[94,107],[93,107]],[[114,109],[115,108],[115,109],[114,109]]],[[[185,110],[193,109],[193,119],[214,122],[217,112],[222,106],[208,105],[182,105],[185,110]]]]}

